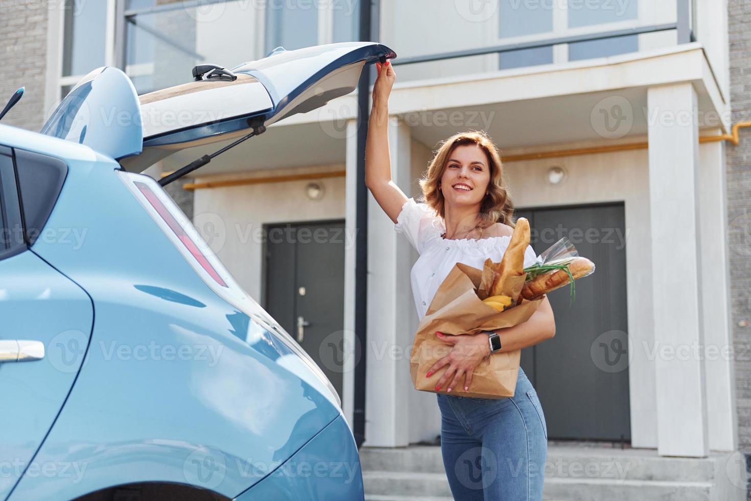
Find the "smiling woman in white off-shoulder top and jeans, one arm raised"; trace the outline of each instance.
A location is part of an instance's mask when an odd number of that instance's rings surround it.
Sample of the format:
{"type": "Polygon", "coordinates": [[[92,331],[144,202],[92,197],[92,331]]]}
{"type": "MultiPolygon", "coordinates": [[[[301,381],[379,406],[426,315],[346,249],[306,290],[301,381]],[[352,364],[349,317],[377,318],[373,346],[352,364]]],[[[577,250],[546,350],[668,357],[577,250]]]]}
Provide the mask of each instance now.
{"type": "MultiPolygon", "coordinates": [[[[420,180],[418,204],[391,181],[388,146],[388,96],[396,75],[387,61],[372,93],[366,142],[365,181],[395,229],[420,253],[412,268],[412,292],[422,318],[454,264],[481,268],[486,258],[499,262],[511,239],[514,205],[503,183],[499,152],[484,132],[455,134],[442,143],[420,180]]],[[[535,261],[526,249],[525,266],[535,261]]],[[[547,297],[529,320],[497,332],[500,352],[532,346],[555,335],[547,297]]],[[[442,415],[441,451],[454,499],[542,499],[547,425],[540,401],[519,369],[514,397],[480,399],[451,395],[469,388],[472,371],[492,357],[488,336],[437,336],[453,348],[428,375],[444,371],[436,391],[442,415]]]]}

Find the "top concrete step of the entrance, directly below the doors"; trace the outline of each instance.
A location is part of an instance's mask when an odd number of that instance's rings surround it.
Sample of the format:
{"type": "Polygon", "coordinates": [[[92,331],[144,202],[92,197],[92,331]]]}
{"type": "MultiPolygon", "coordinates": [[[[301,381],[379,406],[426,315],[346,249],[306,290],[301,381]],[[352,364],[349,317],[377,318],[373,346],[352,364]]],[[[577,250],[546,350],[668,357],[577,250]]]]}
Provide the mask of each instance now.
{"type": "MultiPolygon", "coordinates": [[[[362,448],[363,471],[442,473],[441,449],[436,446],[362,448]]],[[[712,481],[716,457],[659,457],[652,449],[611,449],[550,446],[546,478],[612,480],[712,481]]]]}

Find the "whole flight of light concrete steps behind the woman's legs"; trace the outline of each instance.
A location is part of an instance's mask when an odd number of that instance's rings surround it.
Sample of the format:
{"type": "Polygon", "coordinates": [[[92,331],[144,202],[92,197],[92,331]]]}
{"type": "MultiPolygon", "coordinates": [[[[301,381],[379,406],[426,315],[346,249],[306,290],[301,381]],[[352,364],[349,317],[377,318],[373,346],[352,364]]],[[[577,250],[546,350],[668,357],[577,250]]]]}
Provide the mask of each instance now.
{"type": "MultiPolygon", "coordinates": [[[[451,499],[440,447],[362,448],[366,499],[451,499]]],[[[728,484],[728,454],[659,457],[651,449],[551,445],[543,499],[556,501],[725,501],[745,499],[728,484]]],[[[736,482],[737,483],[737,482],[736,482]]]]}

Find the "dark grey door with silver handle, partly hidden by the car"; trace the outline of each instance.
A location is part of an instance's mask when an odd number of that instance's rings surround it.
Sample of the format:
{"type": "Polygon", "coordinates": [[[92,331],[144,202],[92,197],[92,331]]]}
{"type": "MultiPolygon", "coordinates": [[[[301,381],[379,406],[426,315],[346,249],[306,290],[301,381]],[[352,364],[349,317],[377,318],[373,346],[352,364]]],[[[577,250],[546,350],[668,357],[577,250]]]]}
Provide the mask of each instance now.
{"type": "Polygon", "coordinates": [[[264,308],[342,396],[344,222],[266,225],[264,308]]]}

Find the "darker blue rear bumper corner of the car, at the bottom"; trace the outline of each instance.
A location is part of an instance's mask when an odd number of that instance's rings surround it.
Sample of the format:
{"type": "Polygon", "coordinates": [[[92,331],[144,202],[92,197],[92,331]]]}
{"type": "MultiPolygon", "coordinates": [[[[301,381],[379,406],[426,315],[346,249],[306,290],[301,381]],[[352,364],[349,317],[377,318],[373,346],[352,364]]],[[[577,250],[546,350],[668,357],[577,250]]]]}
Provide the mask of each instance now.
{"type": "Polygon", "coordinates": [[[363,499],[360,458],[354,439],[348,435],[344,418],[336,418],[294,456],[235,500],[363,499]]]}

